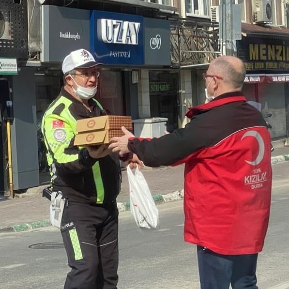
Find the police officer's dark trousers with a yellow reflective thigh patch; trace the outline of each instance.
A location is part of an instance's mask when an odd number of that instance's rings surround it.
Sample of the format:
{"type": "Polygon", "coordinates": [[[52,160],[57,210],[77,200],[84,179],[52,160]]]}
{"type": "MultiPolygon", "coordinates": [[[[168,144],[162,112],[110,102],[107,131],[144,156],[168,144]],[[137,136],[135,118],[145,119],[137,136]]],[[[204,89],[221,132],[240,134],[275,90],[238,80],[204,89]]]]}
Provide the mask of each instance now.
{"type": "Polygon", "coordinates": [[[69,201],[61,235],[71,271],[64,289],[116,289],[118,283],[118,209],[69,201]]]}

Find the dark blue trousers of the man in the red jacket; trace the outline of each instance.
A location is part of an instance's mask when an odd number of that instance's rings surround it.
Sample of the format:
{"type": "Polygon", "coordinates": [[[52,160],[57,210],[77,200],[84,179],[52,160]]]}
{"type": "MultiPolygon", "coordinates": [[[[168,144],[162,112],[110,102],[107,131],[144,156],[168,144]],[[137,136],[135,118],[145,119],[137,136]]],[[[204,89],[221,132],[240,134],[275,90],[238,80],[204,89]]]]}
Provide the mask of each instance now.
{"type": "Polygon", "coordinates": [[[258,254],[221,255],[197,246],[201,289],[258,289],[258,254]]]}

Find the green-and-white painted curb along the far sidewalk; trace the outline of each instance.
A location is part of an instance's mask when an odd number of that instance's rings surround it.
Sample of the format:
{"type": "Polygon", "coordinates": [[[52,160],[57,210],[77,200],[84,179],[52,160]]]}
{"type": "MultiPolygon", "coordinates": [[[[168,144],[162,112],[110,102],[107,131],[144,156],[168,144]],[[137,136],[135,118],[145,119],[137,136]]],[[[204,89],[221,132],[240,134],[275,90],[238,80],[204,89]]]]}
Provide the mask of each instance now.
{"type": "MultiPolygon", "coordinates": [[[[273,156],[271,158],[272,165],[280,164],[280,163],[287,162],[287,161],[289,161],[289,154],[273,156]]],[[[175,191],[173,193],[169,193],[166,195],[153,195],[152,198],[156,205],[171,202],[171,201],[181,200],[183,199],[183,190],[175,191]]],[[[119,213],[130,210],[129,200],[123,203],[117,203],[117,206],[119,209],[119,213]]],[[[51,226],[50,220],[44,220],[44,221],[38,221],[38,222],[32,222],[32,223],[22,223],[22,224],[11,226],[11,227],[0,228],[0,233],[21,232],[21,231],[27,231],[27,230],[32,230],[36,228],[50,227],[50,226],[51,226]]]]}

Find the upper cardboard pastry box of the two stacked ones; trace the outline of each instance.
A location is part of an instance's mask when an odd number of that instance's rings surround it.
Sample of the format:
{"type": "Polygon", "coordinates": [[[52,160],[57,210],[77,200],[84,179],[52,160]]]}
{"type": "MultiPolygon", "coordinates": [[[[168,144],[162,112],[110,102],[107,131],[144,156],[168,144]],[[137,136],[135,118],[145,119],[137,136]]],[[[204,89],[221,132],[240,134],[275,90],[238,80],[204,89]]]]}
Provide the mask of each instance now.
{"type": "Polygon", "coordinates": [[[132,118],[130,116],[104,115],[78,120],[76,122],[76,131],[80,133],[99,130],[122,130],[122,126],[132,130],[132,118]]]}

